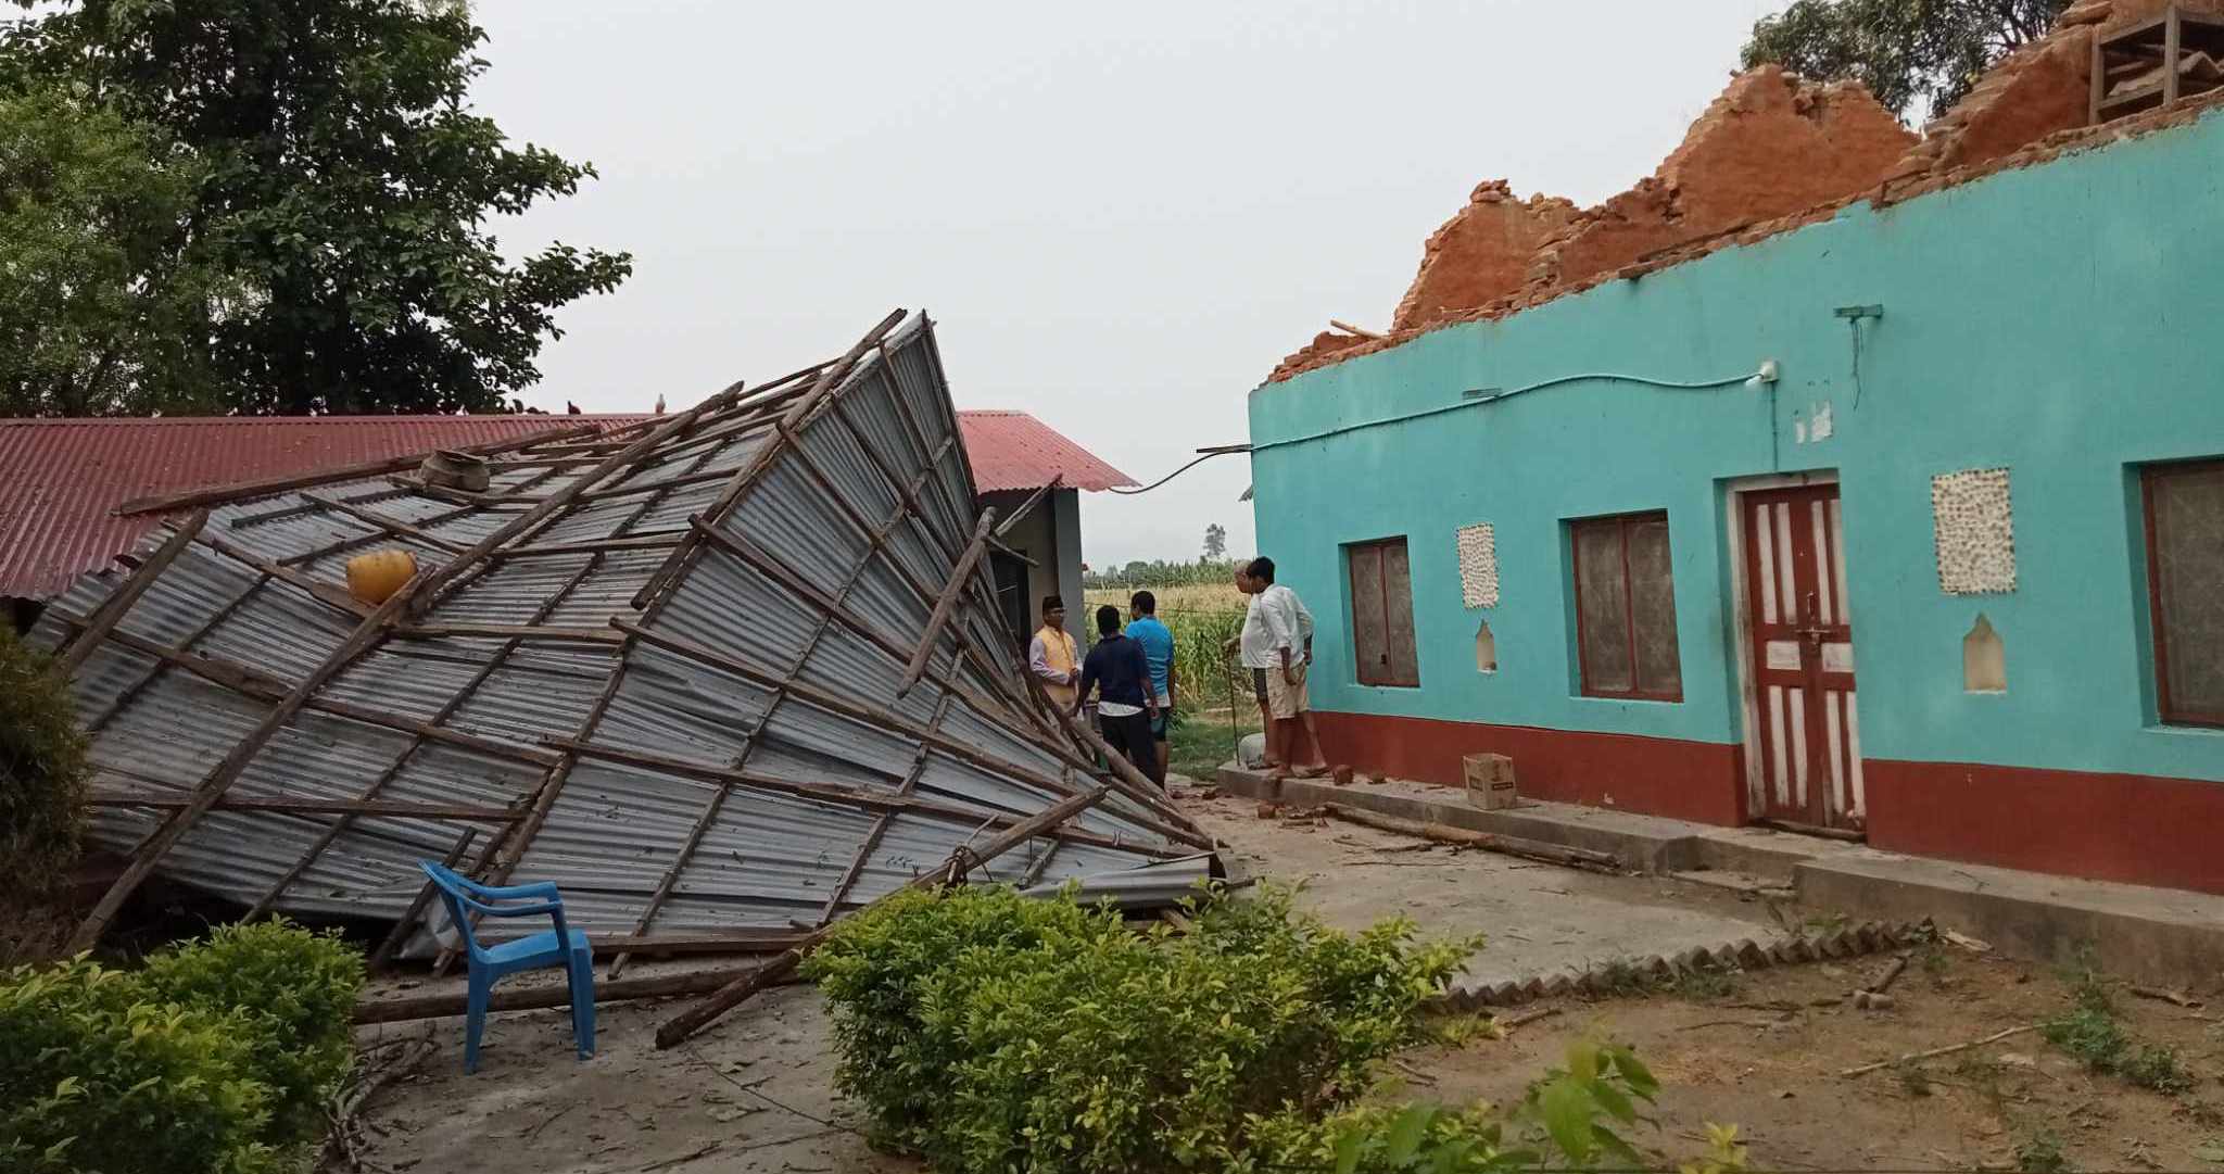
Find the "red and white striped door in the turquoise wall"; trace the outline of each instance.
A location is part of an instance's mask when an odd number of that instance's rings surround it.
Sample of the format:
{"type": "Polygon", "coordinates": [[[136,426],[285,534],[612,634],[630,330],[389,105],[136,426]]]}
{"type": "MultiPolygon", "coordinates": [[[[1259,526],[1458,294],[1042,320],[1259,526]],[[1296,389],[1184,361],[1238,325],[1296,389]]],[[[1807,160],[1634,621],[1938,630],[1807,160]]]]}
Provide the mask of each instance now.
{"type": "Polygon", "coordinates": [[[1861,718],[1837,485],[1739,496],[1761,814],[1859,829],[1861,718]]]}

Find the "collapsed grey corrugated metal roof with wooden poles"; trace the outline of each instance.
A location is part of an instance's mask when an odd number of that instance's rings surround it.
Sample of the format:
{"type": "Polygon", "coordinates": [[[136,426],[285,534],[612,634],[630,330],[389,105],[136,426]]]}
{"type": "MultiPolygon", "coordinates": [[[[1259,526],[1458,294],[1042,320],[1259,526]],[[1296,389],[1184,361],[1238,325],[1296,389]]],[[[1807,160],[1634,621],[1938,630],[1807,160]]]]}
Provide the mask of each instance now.
{"type": "Polygon", "coordinates": [[[492,458],[485,491],[271,489],[173,500],[205,509],[33,634],[73,669],[93,838],[133,858],[80,945],[149,872],[256,914],[389,918],[394,949],[427,909],[416,863],[449,858],[556,880],[625,954],[785,947],[936,869],[1148,869],[1125,898],[1212,865],[1032,689],[923,316],[492,458]],[[345,563],[387,547],[420,569],[367,607],[345,563]]]}

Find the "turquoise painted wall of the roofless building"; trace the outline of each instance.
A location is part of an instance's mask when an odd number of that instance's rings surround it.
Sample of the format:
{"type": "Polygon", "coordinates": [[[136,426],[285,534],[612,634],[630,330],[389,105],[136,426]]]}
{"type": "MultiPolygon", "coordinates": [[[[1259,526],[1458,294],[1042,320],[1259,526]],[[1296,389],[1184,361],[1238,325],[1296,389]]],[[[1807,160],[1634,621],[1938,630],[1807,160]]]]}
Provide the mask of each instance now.
{"type": "MultiPolygon", "coordinates": [[[[1795,165],[1795,160],[1786,160],[1795,165]]],[[[2224,780],[2224,732],[2160,727],[2131,467],[2224,454],[2224,116],[1617,280],[1250,394],[1261,551],[1314,600],[1314,707],[1741,740],[1726,482],[1835,469],[1868,758],[2224,780]],[[1859,391],[1841,305],[1864,322],[1859,391]],[[1586,380],[1428,411],[1472,387],[1586,380]],[[1833,436],[1799,425],[1830,405],[1833,436]],[[2006,465],[2017,589],[1946,596],[1930,478],[2006,465]],[[1568,518],[1666,509],[1681,703],[1577,696],[1568,518]],[[1454,529],[1497,527],[1501,603],[1468,609],[1454,529]],[[1341,545],[1406,536],[1419,689],[1354,683],[1341,545]],[[1977,614],[2008,692],[1964,694],[1977,614]],[[1475,669],[1490,620],[1499,671],[1475,669]]],[[[2224,589],[2224,585],[2220,585],[2224,589]]]]}

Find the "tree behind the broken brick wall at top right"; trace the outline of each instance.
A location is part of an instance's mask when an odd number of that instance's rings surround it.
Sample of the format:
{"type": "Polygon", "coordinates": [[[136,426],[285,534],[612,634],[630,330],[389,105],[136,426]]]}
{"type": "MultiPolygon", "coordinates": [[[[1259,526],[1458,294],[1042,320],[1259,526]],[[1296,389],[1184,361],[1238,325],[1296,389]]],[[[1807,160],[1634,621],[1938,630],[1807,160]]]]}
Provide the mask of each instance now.
{"type": "Polygon", "coordinates": [[[1868,87],[1902,122],[1944,113],[2068,0],[1797,0],[1753,24],[1744,67],[1868,87]]]}

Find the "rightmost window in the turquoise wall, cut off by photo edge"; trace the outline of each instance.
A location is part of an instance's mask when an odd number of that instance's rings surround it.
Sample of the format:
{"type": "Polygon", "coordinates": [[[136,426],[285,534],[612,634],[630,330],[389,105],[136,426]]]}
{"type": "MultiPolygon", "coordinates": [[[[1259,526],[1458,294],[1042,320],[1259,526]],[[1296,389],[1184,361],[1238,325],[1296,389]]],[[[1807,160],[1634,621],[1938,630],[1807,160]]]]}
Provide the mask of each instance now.
{"type": "Polygon", "coordinates": [[[2173,725],[2224,725],[2224,460],[2148,465],[2155,698],[2173,725]]]}

